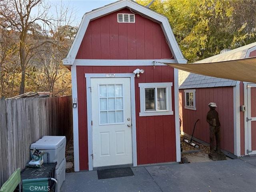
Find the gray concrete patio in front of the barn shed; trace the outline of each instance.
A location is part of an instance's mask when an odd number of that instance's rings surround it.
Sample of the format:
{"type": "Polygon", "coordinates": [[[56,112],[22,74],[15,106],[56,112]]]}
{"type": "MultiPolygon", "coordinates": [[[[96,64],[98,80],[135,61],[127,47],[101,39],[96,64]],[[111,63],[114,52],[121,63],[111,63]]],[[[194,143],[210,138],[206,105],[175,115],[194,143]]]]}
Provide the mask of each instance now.
{"type": "Polygon", "coordinates": [[[61,192],[255,192],[256,156],[189,164],[138,166],[134,176],[98,180],[97,171],[67,173],[61,192]]]}

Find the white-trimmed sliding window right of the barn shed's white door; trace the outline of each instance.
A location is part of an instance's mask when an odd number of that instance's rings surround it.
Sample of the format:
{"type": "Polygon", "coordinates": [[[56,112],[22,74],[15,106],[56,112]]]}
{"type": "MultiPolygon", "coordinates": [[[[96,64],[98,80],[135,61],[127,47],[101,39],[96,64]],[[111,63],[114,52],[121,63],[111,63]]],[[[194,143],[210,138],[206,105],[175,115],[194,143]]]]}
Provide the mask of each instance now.
{"type": "Polygon", "coordinates": [[[172,82],[139,83],[140,116],[173,115],[172,82]]]}

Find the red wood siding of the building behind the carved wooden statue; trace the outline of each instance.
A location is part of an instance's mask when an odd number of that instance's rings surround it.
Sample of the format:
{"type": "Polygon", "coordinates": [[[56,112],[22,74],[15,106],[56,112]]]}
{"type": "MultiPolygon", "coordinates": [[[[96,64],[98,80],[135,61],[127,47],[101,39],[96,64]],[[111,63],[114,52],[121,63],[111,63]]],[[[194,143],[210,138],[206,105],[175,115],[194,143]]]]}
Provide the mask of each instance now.
{"type": "Polygon", "coordinates": [[[216,87],[196,89],[196,110],[185,109],[184,90],[182,95],[182,130],[192,135],[197,119],[194,137],[209,143],[209,125],[206,122],[208,103],[217,104],[221,124],[221,148],[234,154],[234,103],[233,87],[216,87]]]}

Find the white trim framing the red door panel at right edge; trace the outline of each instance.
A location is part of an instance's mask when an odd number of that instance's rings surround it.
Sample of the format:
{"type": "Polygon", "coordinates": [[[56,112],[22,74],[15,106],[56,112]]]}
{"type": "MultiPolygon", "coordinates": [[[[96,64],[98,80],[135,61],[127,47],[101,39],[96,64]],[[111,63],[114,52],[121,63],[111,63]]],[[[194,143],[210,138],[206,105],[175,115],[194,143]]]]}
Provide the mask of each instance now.
{"type": "MultiPolygon", "coordinates": [[[[244,104],[246,106],[246,111],[244,113],[244,154],[254,155],[256,154],[256,151],[252,151],[248,153],[248,150],[252,150],[252,136],[251,136],[252,125],[251,125],[251,121],[246,121],[246,118],[252,118],[252,117],[251,117],[251,91],[250,91],[250,87],[247,88],[247,85],[255,87],[256,84],[244,82],[244,104]],[[248,117],[249,114],[250,114],[250,117],[248,117]]],[[[255,121],[256,118],[254,117],[252,118],[252,120],[255,121]]]]}

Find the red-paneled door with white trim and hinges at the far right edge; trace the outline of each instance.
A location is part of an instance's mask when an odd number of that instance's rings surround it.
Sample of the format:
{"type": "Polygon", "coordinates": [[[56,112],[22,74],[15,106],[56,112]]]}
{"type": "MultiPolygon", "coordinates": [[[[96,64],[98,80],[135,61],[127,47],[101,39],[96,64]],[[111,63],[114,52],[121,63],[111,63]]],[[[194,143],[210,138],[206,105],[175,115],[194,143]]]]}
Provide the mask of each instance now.
{"type": "Polygon", "coordinates": [[[248,147],[246,155],[252,155],[256,154],[256,84],[247,84],[247,106],[248,147]]]}

